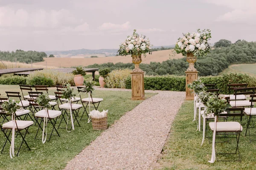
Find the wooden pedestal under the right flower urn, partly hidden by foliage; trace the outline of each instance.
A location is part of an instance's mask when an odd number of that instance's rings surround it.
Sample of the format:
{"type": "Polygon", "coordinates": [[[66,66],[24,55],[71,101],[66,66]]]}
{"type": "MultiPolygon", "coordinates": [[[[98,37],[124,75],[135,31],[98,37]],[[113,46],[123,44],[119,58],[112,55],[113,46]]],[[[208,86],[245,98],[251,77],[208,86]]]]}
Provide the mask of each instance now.
{"type": "Polygon", "coordinates": [[[198,78],[198,71],[185,71],[186,73],[186,100],[194,100],[193,91],[188,88],[188,84],[198,78]]]}

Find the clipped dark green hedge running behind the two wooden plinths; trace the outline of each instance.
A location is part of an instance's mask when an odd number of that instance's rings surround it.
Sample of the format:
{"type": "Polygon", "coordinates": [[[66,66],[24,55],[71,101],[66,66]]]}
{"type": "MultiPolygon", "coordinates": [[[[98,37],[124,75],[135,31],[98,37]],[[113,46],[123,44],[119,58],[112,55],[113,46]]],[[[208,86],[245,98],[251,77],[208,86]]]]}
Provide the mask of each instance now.
{"type": "MultiPolygon", "coordinates": [[[[256,78],[247,74],[224,74],[221,76],[200,77],[204,84],[215,84],[220,93],[228,94],[227,85],[231,83],[248,83],[248,87],[256,86],[256,78]]],[[[185,76],[144,77],[145,90],[186,91],[185,76]]],[[[131,89],[131,77],[126,79],[126,88],[131,89]]]]}

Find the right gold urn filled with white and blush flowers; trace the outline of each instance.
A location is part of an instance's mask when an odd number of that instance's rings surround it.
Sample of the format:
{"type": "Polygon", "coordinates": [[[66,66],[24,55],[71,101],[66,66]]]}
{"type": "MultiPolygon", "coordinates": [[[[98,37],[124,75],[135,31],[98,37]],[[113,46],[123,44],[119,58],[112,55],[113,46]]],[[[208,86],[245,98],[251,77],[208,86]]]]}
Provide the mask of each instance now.
{"type": "Polygon", "coordinates": [[[194,68],[196,56],[206,56],[209,53],[211,48],[209,40],[211,37],[211,31],[209,29],[202,31],[198,29],[197,33],[186,33],[178,39],[174,52],[187,56],[187,62],[189,62],[187,71],[196,71],[194,68]]]}

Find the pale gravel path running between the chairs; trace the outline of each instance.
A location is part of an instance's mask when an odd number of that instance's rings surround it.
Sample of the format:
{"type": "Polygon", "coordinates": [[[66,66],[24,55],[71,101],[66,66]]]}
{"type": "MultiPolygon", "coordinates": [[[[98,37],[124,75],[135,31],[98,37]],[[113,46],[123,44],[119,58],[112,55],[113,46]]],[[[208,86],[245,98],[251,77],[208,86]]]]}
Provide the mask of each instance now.
{"type": "Polygon", "coordinates": [[[152,169],[185,99],[185,92],[154,92],[158,94],[122,116],[65,169],[152,169]]]}

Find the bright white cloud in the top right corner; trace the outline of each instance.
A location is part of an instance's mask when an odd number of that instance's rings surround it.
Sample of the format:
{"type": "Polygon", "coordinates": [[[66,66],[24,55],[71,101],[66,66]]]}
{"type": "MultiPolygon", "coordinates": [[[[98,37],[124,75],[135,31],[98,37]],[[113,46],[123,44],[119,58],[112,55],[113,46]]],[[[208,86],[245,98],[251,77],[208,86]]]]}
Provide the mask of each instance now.
{"type": "Polygon", "coordinates": [[[256,17],[256,0],[204,0],[203,2],[226,6],[230,11],[220,15],[216,21],[250,21],[256,17]]]}

